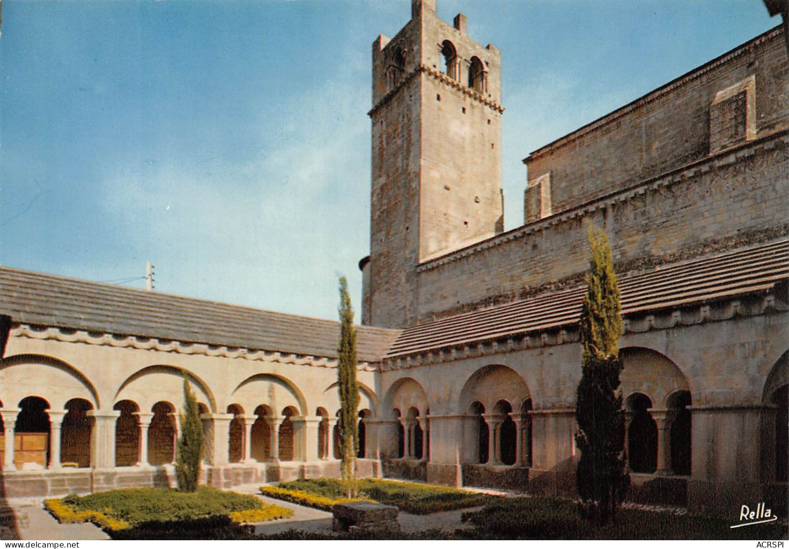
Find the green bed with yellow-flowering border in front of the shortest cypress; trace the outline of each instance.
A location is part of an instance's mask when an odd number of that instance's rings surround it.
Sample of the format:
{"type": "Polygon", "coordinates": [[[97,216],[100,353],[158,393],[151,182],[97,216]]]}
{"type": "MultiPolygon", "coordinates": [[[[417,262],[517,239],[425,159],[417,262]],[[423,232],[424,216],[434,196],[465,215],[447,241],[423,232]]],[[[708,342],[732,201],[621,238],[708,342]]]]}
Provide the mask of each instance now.
{"type": "Polygon", "coordinates": [[[113,537],[126,530],[133,530],[137,536],[145,530],[156,530],[161,535],[169,531],[188,535],[195,529],[195,521],[219,535],[219,530],[233,530],[233,525],[240,523],[293,515],[292,510],[267,505],[254,495],[212,487],[199,487],[189,494],[169,488],[125,488],[45,499],[44,506],[62,523],[90,521],[113,537]]]}

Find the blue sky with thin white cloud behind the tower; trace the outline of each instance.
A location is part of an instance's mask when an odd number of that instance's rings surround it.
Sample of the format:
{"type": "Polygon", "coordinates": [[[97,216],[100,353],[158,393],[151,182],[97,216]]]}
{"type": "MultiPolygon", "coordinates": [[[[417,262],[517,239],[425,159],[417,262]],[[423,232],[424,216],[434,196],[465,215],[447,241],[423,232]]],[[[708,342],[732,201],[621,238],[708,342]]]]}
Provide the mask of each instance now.
{"type": "MultiPolygon", "coordinates": [[[[409,2],[2,4],[0,264],[151,260],[162,292],[330,319],[346,274],[358,304],[371,45],[409,2]]],[[[780,24],[761,0],[438,4],[502,50],[507,230],[530,151],[780,24]]]]}

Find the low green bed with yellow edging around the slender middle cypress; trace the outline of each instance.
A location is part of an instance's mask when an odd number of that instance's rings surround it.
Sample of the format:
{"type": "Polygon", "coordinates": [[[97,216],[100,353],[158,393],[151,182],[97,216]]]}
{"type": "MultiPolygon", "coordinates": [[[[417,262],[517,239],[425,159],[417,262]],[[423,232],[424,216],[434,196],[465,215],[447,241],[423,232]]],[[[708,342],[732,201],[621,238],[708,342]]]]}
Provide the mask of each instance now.
{"type": "MultiPolygon", "coordinates": [[[[291,480],[276,487],[264,486],[261,491],[273,498],[323,510],[331,510],[335,503],[348,501],[343,497],[345,491],[338,479],[291,480]]],[[[413,514],[466,509],[484,505],[492,499],[490,495],[458,488],[380,479],[360,479],[359,496],[360,499],[394,505],[413,514]]]]}

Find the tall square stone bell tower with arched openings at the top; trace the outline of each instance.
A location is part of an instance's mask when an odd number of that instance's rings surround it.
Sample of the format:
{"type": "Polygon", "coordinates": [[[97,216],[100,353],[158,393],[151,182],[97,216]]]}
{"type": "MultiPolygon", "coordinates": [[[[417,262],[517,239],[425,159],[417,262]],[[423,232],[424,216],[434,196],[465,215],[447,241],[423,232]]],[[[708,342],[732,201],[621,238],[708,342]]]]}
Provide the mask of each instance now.
{"type": "Polygon", "coordinates": [[[370,256],[362,323],[419,323],[417,266],[503,231],[499,50],[436,0],[372,44],[370,256]]]}

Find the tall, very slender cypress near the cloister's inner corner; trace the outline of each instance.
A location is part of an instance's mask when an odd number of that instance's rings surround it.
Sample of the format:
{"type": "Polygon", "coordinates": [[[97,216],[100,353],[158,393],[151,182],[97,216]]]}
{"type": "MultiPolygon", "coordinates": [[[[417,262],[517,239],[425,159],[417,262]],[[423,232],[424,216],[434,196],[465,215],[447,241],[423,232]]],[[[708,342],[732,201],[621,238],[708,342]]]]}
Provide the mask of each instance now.
{"type": "Polygon", "coordinates": [[[356,330],[353,328],[353,308],[348,295],[348,282],[340,278],[340,344],[338,350],[337,382],[340,397],[340,454],[342,480],[346,483],[348,497],[355,496],[356,456],[359,452],[359,383],[356,379],[356,330]]]}

